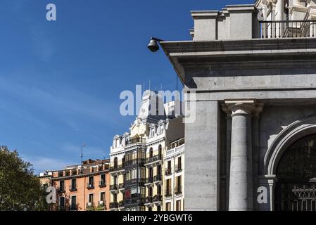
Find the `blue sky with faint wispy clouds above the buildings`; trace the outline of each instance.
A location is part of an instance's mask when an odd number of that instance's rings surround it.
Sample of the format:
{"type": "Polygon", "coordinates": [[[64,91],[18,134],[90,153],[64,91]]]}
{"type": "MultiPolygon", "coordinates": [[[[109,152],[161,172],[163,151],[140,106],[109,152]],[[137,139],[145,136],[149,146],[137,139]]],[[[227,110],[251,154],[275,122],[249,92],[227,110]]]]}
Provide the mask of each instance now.
{"type": "Polygon", "coordinates": [[[253,0],[1,0],[0,145],[17,149],[36,172],[84,158],[108,158],[115,134],[134,117],[119,112],[120,92],[174,90],[175,72],[148,39],[188,40],[189,11],[253,0]],[[57,21],[46,20],[46,4],[57,21]]]}

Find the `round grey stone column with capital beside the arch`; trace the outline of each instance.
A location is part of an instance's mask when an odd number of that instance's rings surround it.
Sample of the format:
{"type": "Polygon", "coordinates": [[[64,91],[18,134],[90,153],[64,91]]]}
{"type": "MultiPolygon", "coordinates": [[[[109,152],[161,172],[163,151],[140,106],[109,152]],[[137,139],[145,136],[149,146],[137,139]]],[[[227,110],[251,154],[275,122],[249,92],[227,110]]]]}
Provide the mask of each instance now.
{"type": "Polygon", "coordinates": [[[253,210],[251,113],[255,100],[225,101],[232,111],[229,210],[253,210]]]}

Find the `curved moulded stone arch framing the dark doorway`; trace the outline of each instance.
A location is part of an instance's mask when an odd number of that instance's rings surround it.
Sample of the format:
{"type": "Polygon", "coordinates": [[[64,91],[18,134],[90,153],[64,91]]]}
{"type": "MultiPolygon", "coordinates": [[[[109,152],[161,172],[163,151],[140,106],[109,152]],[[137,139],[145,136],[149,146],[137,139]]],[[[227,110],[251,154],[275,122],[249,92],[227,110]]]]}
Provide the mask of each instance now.
{"type": "Polygon", "coordinates": [[[276,174],[279,160],[285,150],[299,139],[310,134],[316,134],[316,117],[298,120],[281,131],[265,154],[265,174],[268,176],[276,174]]]}

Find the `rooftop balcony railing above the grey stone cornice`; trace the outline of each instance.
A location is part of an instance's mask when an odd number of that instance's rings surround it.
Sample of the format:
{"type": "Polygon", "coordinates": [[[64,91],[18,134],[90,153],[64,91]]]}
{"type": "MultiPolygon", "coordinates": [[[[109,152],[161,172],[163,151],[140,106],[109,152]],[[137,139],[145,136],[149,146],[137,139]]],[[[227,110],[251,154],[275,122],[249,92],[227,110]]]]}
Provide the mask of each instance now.
{"type": "Polygon", "coordinates": [[[315,37],[316,32],[316,20],[260,21],[260,25],[263,39],[315,37]]]}

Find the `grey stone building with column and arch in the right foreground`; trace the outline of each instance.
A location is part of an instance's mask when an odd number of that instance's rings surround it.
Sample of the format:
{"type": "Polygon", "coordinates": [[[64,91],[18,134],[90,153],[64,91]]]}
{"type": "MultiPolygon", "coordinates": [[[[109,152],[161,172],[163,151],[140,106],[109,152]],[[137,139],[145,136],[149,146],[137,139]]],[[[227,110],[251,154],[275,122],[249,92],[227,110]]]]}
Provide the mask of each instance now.
{"type": "Polygon", "coordinates": [[[160,42],[196,110],[185,124],[185,210],[315,210],[315,8],[258,0],[192,11],[191,41],[160,42]]]}

